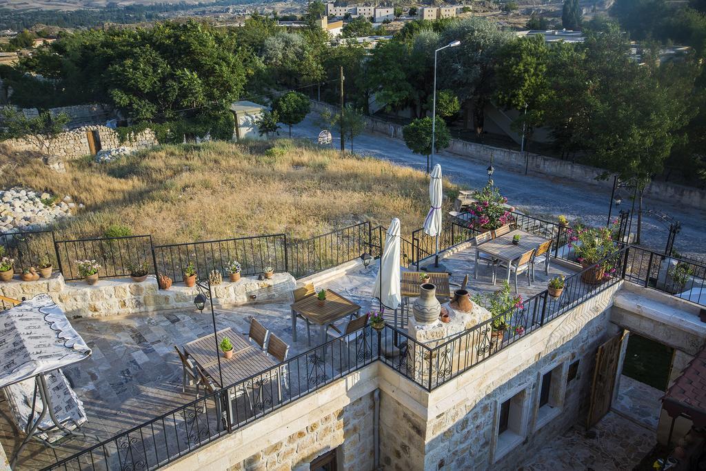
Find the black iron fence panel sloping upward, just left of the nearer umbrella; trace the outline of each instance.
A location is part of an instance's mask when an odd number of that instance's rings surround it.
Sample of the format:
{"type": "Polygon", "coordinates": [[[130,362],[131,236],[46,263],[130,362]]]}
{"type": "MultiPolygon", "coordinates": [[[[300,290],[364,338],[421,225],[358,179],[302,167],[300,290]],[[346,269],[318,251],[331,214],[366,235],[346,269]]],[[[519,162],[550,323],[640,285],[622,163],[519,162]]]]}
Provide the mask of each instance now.
{"type": "Polygon", "coordinates": [[[375,241],[370,221],[289,244],[289,273],[304,278],[371,254],[375,241]]]}

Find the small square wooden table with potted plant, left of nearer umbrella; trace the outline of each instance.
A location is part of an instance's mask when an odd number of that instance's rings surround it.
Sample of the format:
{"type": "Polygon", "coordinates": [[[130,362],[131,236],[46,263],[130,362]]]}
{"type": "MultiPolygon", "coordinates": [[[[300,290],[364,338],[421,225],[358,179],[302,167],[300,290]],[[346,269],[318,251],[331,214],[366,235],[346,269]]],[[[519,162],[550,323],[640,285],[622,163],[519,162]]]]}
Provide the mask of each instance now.
{"type": "MultiPolygon", "coordinates": [[[[358,304],[342,297],[340,294],[333,290],[326,290],[326,300],[323,304],[318,302],[318,297],[313,294],[304,299],[293,303],[292,308],[292,340],[297,342],[297,313],[304,316],[304,318],[319,326],[321,329],[321,343],[326,342],[326,330],[328,324],[333,323],[339,319],[349,316],[351,314],[360,315],[361,307],[358,304]]],[[[308,344],[311,347],[311,338],[309,338],[308,344]]]]}

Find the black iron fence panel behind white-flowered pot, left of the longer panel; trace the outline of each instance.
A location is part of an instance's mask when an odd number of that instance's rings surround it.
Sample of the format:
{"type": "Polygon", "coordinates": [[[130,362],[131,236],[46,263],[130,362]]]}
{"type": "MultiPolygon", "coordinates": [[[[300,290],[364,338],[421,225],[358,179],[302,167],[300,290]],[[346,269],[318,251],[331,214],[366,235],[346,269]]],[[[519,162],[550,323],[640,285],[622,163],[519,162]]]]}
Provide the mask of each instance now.
{"type": "Polygon", "coordinates": [[[56,258],[64,280],[80,280],[76,261],[95,260],[100,263],[104,278],[130,275],[131,267],[146,264],[155,273],[152,258],[152,236],[99,237],[97,239],[57,240],[56,258]]]}

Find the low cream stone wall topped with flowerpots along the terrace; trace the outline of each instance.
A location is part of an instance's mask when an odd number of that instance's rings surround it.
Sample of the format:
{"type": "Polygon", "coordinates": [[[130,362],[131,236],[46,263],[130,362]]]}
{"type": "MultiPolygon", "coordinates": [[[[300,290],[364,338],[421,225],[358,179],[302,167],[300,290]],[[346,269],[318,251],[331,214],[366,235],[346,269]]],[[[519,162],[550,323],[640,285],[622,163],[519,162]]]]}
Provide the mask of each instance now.
{"type": "MultiPolygon", "coordinates": [[[[214,305],[235,306],[287,300],[295,284],[289,273],[275,273],[270,279],[241,278],[211,288],[214,305]]],[[[54,273],[46,280],[25,282],[13,279],[0,284],[0,294],[13,299],[29,299],[40,293],[49,294],[64,309],[66,316],[76,318],[193,308],[198,289],[175,283],[169,290],[160,290],[152,275],[139,283],[131,278],[111,278],[99,280],[91,286],[83,281],[65,282],[60,273],[54,273]]]]}

